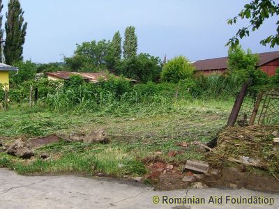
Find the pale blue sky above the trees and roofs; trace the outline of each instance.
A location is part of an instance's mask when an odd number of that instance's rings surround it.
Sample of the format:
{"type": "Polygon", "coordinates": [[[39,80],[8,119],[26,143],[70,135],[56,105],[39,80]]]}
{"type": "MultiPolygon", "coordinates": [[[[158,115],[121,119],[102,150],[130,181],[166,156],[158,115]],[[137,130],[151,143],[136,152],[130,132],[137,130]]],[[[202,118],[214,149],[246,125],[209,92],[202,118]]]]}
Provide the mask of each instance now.
{"type": "MultiPolygon", "coordinates": [[[[28,22],[24,60],[60,62],[72,56],[76,44],[111,40],[116,31],[135,26],[138,53],[161,59],[183,55],[190,61],[227,56],[225,44],[241,26],[227,24],[248,0],[20,0],[28,22]]],[[[8,0],[3,0],[6,13],[8,0]]],[[[3,15],[4,16],[4,15],[3,15]]],[[[3,21],[6,21],[5,17],[3,21]]],[[[252,52],[278,50],[259,41],[276,33],[276,17],[241,40],[252,52]]]]}

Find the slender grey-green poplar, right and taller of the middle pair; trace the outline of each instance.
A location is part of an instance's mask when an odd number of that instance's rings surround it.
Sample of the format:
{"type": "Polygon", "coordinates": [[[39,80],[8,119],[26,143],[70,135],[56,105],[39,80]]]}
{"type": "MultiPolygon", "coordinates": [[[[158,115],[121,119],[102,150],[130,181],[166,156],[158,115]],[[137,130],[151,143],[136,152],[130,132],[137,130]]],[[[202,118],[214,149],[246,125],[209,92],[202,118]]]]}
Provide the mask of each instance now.
{"type": "Polygon", "coordinates": [[[125,30],[125,40],[123,43],[123,57],[129,59],[137,55],[137,35],[135,27],[128,26],[125,30]]]}

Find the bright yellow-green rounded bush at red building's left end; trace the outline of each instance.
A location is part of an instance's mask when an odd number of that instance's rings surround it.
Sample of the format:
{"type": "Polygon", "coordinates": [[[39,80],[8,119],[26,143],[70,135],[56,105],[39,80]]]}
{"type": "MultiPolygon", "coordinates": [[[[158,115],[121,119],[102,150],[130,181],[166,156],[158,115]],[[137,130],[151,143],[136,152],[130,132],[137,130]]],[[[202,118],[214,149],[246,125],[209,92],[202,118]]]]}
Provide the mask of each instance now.
{"type": "Polygon", "coordinates": [[[192,77],[195,67],[185,56],[176,56],[163,66],[161,79],[163,82],[178,83],[182,79],[192,77]]]}

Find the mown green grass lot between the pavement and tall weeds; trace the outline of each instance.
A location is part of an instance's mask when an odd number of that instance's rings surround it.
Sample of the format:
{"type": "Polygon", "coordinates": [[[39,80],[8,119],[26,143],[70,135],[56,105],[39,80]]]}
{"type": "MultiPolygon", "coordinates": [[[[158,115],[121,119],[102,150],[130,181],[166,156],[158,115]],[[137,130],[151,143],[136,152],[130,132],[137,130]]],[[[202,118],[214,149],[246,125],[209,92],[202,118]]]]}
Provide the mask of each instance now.
{"type": "MultiPolygon", "coordinates": [[[[0,111],[0,136],[4,144],[15,139],[47,134],[89,133],[105,128],[110,144],[66,143],[61,141],[37,148],[30,160],[0,153],[0,167],[18,173],[86,173],[96,176],[142,176],[146,173],[144,158],[157,157],[163,162],[182,164],[189,159],[201,160],[197,146],[168,157],[170,150],[181,150],[181,142],[209,141],[227,121],[232,100],[176,100],[162,108],[135,105],[129,111],[70,111],[57,114],[39,107],[0,111]],[[7,137],[7,138],[6,138],[7,137]],[[40,159],[47,153],[50,158],[40,159]]],[[[164,106],[165,105],[165,106],[164,106]]]]}

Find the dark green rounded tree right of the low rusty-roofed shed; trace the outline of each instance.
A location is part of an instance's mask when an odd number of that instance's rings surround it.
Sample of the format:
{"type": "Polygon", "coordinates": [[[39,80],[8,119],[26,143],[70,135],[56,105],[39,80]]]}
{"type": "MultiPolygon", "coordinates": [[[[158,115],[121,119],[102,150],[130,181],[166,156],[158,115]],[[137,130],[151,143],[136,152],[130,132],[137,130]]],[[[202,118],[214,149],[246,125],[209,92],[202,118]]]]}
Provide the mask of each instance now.
{"type": "Polygon", "coordinates": [[[146,83],[158,81],[162,67],[158,57],[141,53],[129,59],[123,59],[116,70],[119,75],[146,83]]]}

